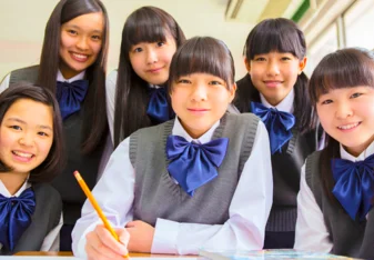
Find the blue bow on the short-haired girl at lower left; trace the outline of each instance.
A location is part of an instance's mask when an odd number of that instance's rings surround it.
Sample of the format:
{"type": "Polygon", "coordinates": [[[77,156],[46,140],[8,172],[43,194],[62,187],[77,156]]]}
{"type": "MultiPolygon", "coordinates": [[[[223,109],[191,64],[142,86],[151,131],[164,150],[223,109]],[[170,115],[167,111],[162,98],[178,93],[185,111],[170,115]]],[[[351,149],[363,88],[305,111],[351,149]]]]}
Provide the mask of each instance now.
{"type": "Polygon", "coordinates": [[[36,209],[36,197],[31,188],[19,197],[6,198],[0,194],[0,242],[12,251],[31,223],[36,209]]]}

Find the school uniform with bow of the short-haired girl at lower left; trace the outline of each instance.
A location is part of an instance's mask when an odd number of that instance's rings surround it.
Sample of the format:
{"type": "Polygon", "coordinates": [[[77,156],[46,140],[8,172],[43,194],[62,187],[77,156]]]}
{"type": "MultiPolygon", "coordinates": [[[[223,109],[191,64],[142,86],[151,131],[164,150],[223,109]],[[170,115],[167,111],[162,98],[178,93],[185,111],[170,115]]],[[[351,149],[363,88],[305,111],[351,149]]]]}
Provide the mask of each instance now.
{"type": "Polygon", "coordinates": [[[0,256],[19,251],[59,251],[62,202],[60,194],[51,186],[31,186],[26,181],[12,196],[0,180],[0,256]],[[30,221],[27,223],[24,212],[30,213],[30,221]],[[19,214],[22,218],[17,222],[19,214]],[[8,227],[14,229],[9,231],[8,227]]]}

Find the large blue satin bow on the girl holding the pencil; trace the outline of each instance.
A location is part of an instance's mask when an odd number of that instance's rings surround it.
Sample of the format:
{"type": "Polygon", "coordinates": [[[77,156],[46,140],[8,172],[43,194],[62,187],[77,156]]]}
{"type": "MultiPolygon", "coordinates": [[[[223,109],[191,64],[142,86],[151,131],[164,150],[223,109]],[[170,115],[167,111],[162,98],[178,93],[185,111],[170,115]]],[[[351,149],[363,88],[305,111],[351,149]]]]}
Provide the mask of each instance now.
{"type": "Polygon", "coordinates": [[[220,138],[204,144],[188,142],[179,136],[169,136],[166,156],[171,160],[168,170],[191,197],[194,190],[218,177],[229,144],[229,138],[220,138]]]}

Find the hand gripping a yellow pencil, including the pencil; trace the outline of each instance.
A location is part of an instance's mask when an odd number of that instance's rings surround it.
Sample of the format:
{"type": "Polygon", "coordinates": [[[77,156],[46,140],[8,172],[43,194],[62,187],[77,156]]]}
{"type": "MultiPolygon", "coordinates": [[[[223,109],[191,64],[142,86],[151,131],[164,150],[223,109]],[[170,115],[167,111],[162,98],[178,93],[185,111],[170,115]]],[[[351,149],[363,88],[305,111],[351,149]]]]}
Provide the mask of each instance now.
{"type": "Polygon", "coordinates": [[[124,228],[114,230],[111,227],[97,200],[92,196],[90,189],[87,187],[84,180],[78,171],[74,171],[74,177],[104,224],[97,226],[93,231],[87,234],[85,251],[89,259],[95,259],[99,256],[100,259],[129,258],[127,249],[127,244],[130,239],[129,232],[124,228]]]}

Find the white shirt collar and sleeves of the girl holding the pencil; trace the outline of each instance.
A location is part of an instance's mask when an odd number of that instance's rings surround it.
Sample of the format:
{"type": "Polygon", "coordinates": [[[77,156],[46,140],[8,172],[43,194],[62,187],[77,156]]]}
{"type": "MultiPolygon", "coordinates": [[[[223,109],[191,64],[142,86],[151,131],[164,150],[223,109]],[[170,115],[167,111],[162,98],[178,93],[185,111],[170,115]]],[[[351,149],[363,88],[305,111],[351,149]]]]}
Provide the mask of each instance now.
{"type": "MultiPolygon", "coordinates": [[[[198,141],[211,140],[219,122],[198,141]]],[[[188,141],[193,139],[175,119],[172,134],[188,141]]],[[[114,227],[124,227],[133,220],[135,172],[129,158],[127,138],[111,156],[103,177],[93,189],[93,196],[109,221],[114,227]]],[[[271,168],[269,136],[260,121],[252,153],[244,164],[236,190],[232,198],[229,216],[224,224],[181,223],[158,219],[152,243],[152,253],[196,254],[200,248],[260,250],[263,247],[264,230],[273,199],[273,177],[271,168]]],[[[178,210],[178,209],[175,209],[178,210]]],[[[72,232],[74,256],[85,257],[85,234],[100,223],[97,212],[89,201],[82,209],[72,232]]]]}

